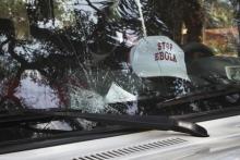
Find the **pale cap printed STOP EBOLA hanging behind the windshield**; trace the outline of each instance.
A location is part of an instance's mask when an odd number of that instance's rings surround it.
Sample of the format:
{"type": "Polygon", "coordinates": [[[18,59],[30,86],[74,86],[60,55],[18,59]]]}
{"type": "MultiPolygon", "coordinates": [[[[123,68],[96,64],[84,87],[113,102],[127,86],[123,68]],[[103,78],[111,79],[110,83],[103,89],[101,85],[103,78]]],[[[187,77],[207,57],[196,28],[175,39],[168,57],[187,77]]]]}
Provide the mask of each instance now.
{"type": "Polygon", "coordinates": [[[190,81],[184,52],[166,36],[140,39],[130,52],[130,63],[140,77],[172,76],[190,81]]]}

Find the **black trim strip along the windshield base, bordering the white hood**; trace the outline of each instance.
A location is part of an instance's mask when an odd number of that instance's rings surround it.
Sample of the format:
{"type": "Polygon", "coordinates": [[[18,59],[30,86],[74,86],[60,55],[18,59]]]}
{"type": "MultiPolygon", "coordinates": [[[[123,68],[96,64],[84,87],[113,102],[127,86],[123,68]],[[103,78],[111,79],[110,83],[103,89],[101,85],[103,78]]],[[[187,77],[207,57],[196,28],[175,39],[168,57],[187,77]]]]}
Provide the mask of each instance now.
{"type": "Polygon", "coordinates": [[[136,132],[143,132],[146,130],[130,128],[123,126],[113,126],[109,128],[99,128],[96,131],[81,131],[72,133],[63,133],[51,137],[43,137],[36,139],[22,139],[1,143],[0,155],[11,153],[16,151],[26,151],[32,149],[40,149],[45,147],[53,147],[58,145],[68,145],[72,143],[81,143],[93,139],[108,138],[120,135],[127,135],[136,132]]]}

